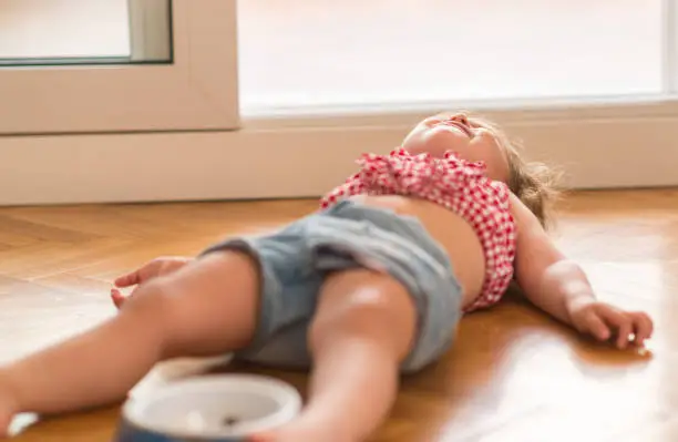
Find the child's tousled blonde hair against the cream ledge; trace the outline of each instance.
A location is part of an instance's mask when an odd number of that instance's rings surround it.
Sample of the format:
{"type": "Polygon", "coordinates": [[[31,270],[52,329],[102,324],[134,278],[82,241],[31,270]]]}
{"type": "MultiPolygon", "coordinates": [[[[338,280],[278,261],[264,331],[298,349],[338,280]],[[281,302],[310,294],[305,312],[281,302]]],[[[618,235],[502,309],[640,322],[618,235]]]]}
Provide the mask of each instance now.
{"type": "Polygon", "coordinates": [[[497,124],[484,117],[469,116],[469,121],[492,131],[508,162],[508,188],[537,217],[544,228],[554,224],[553,206],[561,195],[561,174],[544,163],[528,162],[520,143],[511,140],[497,124]]]}

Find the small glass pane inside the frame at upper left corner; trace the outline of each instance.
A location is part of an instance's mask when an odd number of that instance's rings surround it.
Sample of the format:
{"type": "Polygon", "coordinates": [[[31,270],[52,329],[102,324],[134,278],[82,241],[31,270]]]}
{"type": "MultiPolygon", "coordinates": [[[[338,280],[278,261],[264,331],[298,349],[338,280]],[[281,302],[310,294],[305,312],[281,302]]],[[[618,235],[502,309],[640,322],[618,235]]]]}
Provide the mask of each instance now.
{"type": "Polygon", "coordinates": [[[170,3],[0,0],[0,64],[171,61],[170,3]]]}

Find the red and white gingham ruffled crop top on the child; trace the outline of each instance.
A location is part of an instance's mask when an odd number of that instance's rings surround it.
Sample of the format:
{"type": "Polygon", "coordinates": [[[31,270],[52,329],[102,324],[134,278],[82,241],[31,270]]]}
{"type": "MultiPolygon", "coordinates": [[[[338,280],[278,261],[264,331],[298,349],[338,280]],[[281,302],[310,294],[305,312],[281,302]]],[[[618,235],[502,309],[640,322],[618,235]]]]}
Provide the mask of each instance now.
{"type": "Polygon", "coordinates": [[[476,233],[485,255],[481,295],[466,311],[497,302],[513,277],[516,229],[510,192],[504,183],[485,175],[485,164],[446,152],[444,158],[411,155],[403,148],[390,155],[364,154],[360,171],[321,199],[327,208],[352,195],[410,195],[425,198],[459,214],[476,233]]]}

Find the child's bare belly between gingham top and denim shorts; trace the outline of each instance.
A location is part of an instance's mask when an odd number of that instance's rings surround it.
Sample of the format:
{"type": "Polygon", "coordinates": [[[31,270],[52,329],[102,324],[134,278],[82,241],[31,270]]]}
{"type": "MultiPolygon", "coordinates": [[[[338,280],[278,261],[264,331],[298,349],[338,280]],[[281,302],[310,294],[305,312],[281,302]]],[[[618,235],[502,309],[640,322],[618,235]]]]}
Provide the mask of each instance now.
{"type": "Polygon", "coordinates": [[[429,201],[401,195],[356,195],[351,199],[417,217],[448,251],[463,287],[463,305],[477,298],[484,281],[485,257],[477,236],[461,216],[429,201]]]}

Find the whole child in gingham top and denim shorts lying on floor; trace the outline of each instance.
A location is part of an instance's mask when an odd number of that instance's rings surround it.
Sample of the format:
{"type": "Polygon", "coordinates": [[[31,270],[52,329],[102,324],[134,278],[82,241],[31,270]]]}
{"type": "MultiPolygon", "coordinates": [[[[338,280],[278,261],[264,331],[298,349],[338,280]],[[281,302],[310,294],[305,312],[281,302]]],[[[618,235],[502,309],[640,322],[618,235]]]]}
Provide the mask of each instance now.
{"type": "Polygon", "coordinates": [[[651,336],[647,315],[597,301],[549,240],[548,169],[497,127],[431,116],[401,148],[359,166],[319,212],[273,234],[119,278],[135,288],[129,298],[113,290],[115,318],[0,369],[0,432],[18,412],[120,401],[158,361],[235,352],[312,367],[304,412],[251,440],[362,441],[389,413],[399,374],[436,361],[460,318],[496,304],[512,280],[545,312],[619,349],[651,336]]]}

